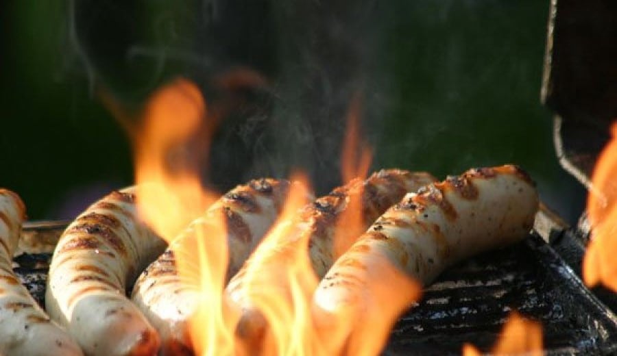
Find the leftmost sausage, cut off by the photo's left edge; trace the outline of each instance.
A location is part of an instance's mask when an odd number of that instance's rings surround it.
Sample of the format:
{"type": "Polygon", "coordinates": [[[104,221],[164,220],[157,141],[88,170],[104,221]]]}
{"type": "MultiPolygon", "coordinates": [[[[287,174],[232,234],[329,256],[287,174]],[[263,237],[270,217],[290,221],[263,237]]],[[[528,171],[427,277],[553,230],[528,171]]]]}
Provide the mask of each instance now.
{"type": "Polygon", "coordinates": [[[82,355],[66,331],[49,319],[12,269],[23,202],[10,190],[0,189],[0,355],[82,355]]]}

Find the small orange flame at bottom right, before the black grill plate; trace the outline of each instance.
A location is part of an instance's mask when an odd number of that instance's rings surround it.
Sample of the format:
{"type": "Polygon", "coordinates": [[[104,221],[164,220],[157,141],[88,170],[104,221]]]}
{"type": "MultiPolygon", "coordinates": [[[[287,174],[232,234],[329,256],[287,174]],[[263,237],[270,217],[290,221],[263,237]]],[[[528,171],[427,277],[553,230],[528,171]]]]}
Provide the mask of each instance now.
{"type": "MultiPolygon", "coordinates": [[[[542,326],[540,323],[522,318],[512,312],[505,323],[492,355],[543,355],[542,326]]],[[[463,356],[476,356],[482,353],[470,344],[463,345],[463,356]]]]}

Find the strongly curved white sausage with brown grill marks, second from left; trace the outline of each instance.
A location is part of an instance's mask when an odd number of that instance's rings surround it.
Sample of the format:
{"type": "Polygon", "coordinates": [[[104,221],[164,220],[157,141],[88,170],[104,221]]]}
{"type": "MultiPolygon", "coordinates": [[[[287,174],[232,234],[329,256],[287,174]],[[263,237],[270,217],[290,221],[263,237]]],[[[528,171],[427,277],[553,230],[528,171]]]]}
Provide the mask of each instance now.
{"type": "Polygon", "coordinates": [[[87,355],[153,355],[156,330],[125,296],[167,245],[136,216],[130,187],[97,201],[66,228],[49,267],[47,312],[87,355]]]}

